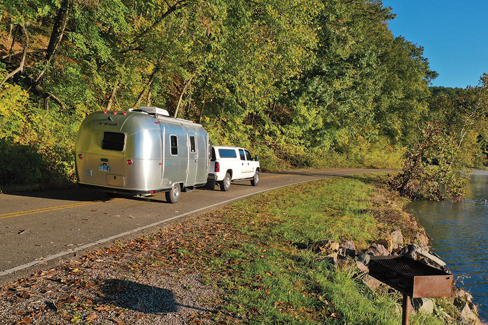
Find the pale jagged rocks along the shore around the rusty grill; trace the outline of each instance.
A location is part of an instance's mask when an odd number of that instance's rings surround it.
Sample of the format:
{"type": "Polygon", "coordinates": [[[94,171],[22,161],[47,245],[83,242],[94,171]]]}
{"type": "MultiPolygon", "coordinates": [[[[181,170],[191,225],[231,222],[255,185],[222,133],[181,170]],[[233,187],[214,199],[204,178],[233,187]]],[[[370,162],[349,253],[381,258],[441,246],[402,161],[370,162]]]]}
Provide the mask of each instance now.
{"type": "MultiPolygon", "coordinates": [[[[410,216],[410,218],[413,218],[413,216],[410,216]]],[[[413,222],[418,226],[415,220],[413,222]]],[[[425,233],[425,230],[418,228],[416,230],[415,240],[412,243],[406,242],[401,230],[395,230],[386,234],[384,238],[376,240],[369,248],[364,250],[357,250],[352,241],[343,243],[321,241],[315,243],[312,249],[317,253],[324,254],[332,264],[337,266],[353,260],[362,281],[370,288],[376,289],[386,285],[368,274],[370,258],[372,256],[407,256],[415,259],[415,261],[450,273],[446,263],[431,250],[429,242],[430,238],[425,233]]],[[[458,287],[454,283],[452,296],[448,299],[452,299],[453,306],[459,311],[459,316],[455,319],[459,323],[472,325],[485,324],[478,316],[478,308],[473,303],[473,296],[463,288],[458,287]]],[[[411,305],[413,307],[411,310],[412,313],[433,313],[436,309],[434,299],[430,298],[411,299],[411,305]]],[[[446,321],[452,320],[452,317],[445,312],[442,313],[442,317],[446,321]]]]}

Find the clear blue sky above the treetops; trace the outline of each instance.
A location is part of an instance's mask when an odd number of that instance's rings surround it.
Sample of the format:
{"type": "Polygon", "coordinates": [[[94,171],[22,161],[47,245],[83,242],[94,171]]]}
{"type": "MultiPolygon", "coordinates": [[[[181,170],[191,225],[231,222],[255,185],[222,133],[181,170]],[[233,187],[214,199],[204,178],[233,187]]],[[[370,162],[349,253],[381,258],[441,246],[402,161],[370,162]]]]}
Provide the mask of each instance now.
{"type": "Polygon", "coordinates": [[[396,18],[394,36],[423,46],[424,57],[439,77],[433,86],[478,85],[488,73],[487,0],[383,0],[396,18]]]}

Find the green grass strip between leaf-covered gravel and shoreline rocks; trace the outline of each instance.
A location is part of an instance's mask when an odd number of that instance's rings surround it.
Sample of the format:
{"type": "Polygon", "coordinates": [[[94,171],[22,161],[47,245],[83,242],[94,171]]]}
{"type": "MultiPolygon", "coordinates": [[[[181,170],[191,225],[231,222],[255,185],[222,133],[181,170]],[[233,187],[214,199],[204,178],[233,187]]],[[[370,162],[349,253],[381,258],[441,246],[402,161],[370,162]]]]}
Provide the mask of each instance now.
{"type": "MultiPolygon", "coordinates": [[[[373,291],[353,261],[335,268],[310,246],[352,240],[367,248],[382,224],[369,212],[374,188],[334,178],[266,192],[224,209],[238,234],[211,259],[221,276],[227,313],[250,324],[399,324],[398,293],[373,291]],[[308,248],[298,249],[297,243],[308,248]]],[[[411,324],[442,324],[435,315],[411,324]]]]}

